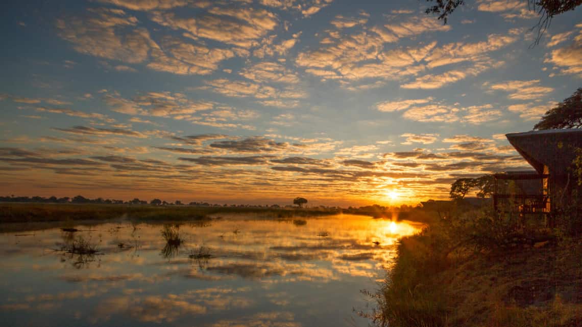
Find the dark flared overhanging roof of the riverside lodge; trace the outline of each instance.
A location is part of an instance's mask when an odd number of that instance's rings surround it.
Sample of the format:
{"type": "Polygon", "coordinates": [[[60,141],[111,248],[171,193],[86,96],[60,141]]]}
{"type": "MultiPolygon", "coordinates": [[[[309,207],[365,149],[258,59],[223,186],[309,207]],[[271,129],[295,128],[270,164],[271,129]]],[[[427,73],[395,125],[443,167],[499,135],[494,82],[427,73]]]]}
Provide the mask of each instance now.
{"type": "Polygon", "coordinates": [[[544,165],[551,174],[566,174],[567,167],[576,157],[576,148],[582,148],[582,129],[543,130],[505,135],[509,143],[538,172],[544,165]]]}

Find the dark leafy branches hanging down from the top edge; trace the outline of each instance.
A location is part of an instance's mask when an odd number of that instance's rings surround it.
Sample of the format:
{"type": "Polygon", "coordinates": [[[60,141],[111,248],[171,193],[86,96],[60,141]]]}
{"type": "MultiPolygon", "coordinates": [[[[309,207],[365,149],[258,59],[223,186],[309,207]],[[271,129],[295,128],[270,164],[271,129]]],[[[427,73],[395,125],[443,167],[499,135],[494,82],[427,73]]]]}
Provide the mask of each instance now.
{"type": "MultiPolygon", "coordinates": [[[[582,5],[582,0],[523,0],[527,2],[528,8],[536,12],[540,16],[540,20],[534,27],[538,29],[538,36],[535,38],[534,44],[538,44],[545,30],[549,27],[554,16],[561,13],[569,12],[576,9],[577,6],[582,5]]],[[[427,14],[439,15],[438,19],[446,24],[449,15],[457,9],[458,6],[464,5],[465,0],[427,0],[427,2],[435,3],[428,7],[425,12],[427,14]]]]}

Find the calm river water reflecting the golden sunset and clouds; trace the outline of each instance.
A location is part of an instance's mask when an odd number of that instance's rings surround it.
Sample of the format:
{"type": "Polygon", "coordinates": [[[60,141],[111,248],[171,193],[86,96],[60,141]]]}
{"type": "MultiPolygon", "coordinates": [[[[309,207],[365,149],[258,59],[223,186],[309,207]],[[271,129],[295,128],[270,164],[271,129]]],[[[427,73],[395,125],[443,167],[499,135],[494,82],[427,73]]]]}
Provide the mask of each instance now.
{"type": "Polygon", "coordinates": [[[357,215],[63,226],[0,234],[3,326],[366,326],[360,290],[418,227],[357,215]],[[79,238],[99,252],[66,253],[79,238]]]}

